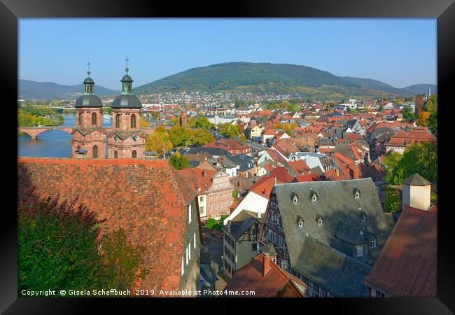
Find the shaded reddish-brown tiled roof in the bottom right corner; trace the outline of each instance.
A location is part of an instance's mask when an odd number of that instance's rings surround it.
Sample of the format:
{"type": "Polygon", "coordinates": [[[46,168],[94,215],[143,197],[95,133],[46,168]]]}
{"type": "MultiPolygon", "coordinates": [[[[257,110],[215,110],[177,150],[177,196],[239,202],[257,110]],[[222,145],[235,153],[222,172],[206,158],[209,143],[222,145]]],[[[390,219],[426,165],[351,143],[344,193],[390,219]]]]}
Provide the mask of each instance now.
{"type": "Polygon", "coordinates": [[[437,214],[405,207],[364,283],[390,296],[437,296],[437,214]]]}

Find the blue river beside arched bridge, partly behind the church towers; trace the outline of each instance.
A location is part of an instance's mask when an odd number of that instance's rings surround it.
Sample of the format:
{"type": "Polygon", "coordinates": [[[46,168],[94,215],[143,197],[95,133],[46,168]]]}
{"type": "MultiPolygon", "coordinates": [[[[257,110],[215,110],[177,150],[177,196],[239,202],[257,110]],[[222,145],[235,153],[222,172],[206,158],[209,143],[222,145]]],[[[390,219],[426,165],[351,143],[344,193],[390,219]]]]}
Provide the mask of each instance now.
{"type": "MultiPolygon", "coordinates": [[[[63,115],[60,127],[76,126],[76,114],[63,115]]],[[[112,127],[110,120],[103,119],[103,127],[112,127]]],[[[68,158],[71,154],[71,134],[62,130],[49,130],[31,139],[28,134],[18,135],[18,156],[68,158]]]]}

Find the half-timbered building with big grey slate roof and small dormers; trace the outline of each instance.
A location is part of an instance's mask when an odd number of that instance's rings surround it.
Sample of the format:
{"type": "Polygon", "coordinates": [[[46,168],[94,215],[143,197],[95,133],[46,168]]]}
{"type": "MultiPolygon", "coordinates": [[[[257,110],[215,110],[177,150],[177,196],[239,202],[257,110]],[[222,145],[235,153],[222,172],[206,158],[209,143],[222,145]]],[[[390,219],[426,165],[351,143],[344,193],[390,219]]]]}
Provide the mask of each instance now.
{"type": "Polygon", "coordinates": [[[362,283],[393,228],[371,179],[278,184],[260,244],[309,286],[308,296],[368,296],[362,283]]]}

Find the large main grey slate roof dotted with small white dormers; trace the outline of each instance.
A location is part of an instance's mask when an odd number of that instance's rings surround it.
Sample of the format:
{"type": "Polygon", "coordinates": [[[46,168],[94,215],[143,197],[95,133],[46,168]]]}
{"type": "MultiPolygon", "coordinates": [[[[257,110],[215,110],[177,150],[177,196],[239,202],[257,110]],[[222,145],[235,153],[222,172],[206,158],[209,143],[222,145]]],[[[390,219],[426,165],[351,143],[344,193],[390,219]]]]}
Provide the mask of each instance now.
{"type": "Polygon", "coordinates": [[[299,259],[306,233],[325,245],[352,255],[353,247],[349,246],[349,251],[346,251],[344,242],[353,244],[356,239],[337,235],[340,225],[348,224],[357,232],[363,230],[365,235],[375,235],[377,247],[368,250],[368,258],[374,260],[393,228],[393,218],[382,211],[372,179],[283,183],[277,184],[272,193],[276,194],[292,266],[299,259]],[[360,191],[359,198],[354,195],[355,189],[360,191]],[[291,197],[294,193],[298,197],[297,204],[291,197]],[[316,202],[311,200],[312,193],[318,196],[316,202]],[[362,211],[367,215],[366,221],[360,219],[362,211]],[[303,218],[303,228],[295,224],[297,216],[303,218]],[[321,226],[318,225],[319,216],[323,217],[321,226]]]}

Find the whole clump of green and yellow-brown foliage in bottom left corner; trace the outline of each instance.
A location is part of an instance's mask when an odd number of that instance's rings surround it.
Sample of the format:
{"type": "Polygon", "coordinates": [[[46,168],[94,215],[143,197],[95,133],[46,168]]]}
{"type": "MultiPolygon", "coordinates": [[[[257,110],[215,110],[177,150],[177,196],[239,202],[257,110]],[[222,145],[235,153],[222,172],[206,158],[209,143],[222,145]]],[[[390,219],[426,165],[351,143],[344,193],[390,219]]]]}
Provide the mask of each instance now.
{"type": "MultiPolygon", "coordinates": [[[[100,230],[105,220],[85,206],[48,197],[18,208],[18,293],[49,288],[131,288],[144,279],[144,247],[122,229],[100,230]]],[[[57,290],[59,295],[59,290],[57,290]]]]}

